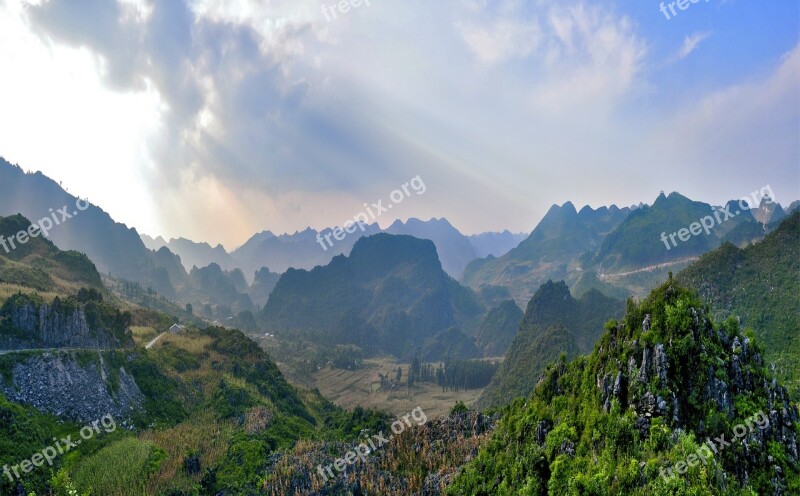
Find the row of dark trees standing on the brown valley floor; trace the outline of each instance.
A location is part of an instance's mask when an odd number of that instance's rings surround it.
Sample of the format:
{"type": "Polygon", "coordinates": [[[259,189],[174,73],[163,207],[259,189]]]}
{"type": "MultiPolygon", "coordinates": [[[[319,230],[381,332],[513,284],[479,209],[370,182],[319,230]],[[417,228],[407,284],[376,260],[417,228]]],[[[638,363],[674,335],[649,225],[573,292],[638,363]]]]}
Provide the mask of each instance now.
{"type": "Polygon", "coordinates": [[[442,391],[478,389],[489,384],[498,366],[497,362],[483,360],[447,360],[437,366],[421,363],[414,357],[408,367],[407,384],[411,387],[416,383],[435,383],[442,391]]]}

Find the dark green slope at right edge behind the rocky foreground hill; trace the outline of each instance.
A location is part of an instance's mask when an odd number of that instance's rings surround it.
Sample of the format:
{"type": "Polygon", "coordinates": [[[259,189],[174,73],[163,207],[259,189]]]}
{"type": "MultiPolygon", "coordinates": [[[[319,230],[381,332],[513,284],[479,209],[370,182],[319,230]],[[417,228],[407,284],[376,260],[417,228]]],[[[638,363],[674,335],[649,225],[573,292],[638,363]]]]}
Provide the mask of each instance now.
{"type": "Polygon", "coordinates": [[[678,274],[698,289],[717,320],[736,317],[752,328],[768,361],[800,395],[800,212],[762,241],[739,249],[724,244],[678,274]]]}

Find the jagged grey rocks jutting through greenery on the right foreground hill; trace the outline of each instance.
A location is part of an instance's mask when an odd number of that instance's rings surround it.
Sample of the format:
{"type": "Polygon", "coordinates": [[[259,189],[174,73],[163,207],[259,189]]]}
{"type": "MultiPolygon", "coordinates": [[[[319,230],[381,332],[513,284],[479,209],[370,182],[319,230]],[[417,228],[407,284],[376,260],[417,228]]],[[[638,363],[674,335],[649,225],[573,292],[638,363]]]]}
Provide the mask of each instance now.
{"type": "MultiPolygon", "coordinates": [[[[611,410],[614,400],[635,411],[636,427],[643,437],[648,436],[654,417],[663,417],[673,429],[689,430],[695,426],[693,430],[699,436],[706,436],[712,432],[706,431],[696,404],[714,405],[715,410],[729,420],[736,421],[741,420],[741,412],[737,410],[734,399],[752,393],[767,399],[764,413],[769,416],[770,422],[767,428],[751,432],[743,444],[747,446],[752,443],[759,448],[757,451],[763,453],[770,442],[776,442],[786,448],[792,464],[800,462],[800,441],[795,429],[798,422],[797,407],[792,403],[787,389],[778,385],[774,366],[770,381],[758,372],[765,368],[764,359],[749,338],[732,336],[724,330],[715,329],[702,308],[689,308],[688,315],[691,318],[687,319],[686,328],[682,329],[686,336],[683,340],[692,343],[691,346],[700,353],[696,357],[697,366],[687,363],[691,362],[687,357],[674,355],[670,359],[663,343],[651,345],[643,342],[649,330],[649,315],[642,323],[641,341],[624,341],[612,333],[612,350],[625,349],[630,354],[624,367],[616,360],[616,366],[610,367],[612,371],[607,367],[606,373],[596,377],[604,411],[611,410]],[[713,359],[705,356],[707,346],[720,350],[713,359]],[[700,357],[705,360],[705,366],[700,365],[700,357]],[[696,397],[695,404],[688,401],[692,397],[696,397]]],[[[675,344],[671,343],[670,347],[675,344]]],[[[763,463],[755,454],[750,457],[736,468],[735,475],[740,481],[748,480],[748,467],[763,463]]],[[[774,461],[770,460],[769,463],[774,461]]],[[[787,494],[782,485],[784,478],[781,467],[775,464],[772,468],[773,494],[787,494]]]]}

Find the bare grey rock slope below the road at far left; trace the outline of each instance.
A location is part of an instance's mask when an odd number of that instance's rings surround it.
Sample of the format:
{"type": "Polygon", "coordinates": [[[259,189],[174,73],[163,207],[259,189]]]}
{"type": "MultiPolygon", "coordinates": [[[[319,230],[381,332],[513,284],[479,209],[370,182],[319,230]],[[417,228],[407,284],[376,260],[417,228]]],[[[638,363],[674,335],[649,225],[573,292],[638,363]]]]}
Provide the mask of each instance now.
{"type": "Polygon", "coordinates": [[[42,353],[18,357],[0,380],[9,401],[80,422],[111,415],[124,425],[142,408],[144,395],[124,367],[101,353],[42,353]]]}

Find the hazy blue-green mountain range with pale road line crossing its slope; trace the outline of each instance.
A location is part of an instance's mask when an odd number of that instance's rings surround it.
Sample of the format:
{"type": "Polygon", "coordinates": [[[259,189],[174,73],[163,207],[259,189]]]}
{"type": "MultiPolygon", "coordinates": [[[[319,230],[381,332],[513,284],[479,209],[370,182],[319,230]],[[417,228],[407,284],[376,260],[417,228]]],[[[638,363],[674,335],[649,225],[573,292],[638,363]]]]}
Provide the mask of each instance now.
{"type": "MultiPolygon", "coordinates": [[[[471,262],[463,282],[473,288],[507,287],[518,304],[548,279],[566,281],[577,294],[595,288],[614,297],[643,297],[668,271],[685,268],[725,241],[741,246],[757,241],[786,215],[767,195],[757,206],[744,209],[742,204],[714,207],[679,193],[661,193],[652,205],[630,208],[585,206],[577,211],[571,202],[553,205],[519,246],[501,257],[471,262]],[[697,234],[703,219],[713,225],[697,234]]],[[[789,211],[797,206],[793,203],[789,211]]]]}

